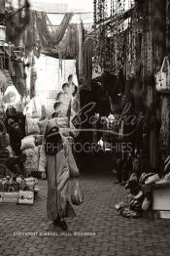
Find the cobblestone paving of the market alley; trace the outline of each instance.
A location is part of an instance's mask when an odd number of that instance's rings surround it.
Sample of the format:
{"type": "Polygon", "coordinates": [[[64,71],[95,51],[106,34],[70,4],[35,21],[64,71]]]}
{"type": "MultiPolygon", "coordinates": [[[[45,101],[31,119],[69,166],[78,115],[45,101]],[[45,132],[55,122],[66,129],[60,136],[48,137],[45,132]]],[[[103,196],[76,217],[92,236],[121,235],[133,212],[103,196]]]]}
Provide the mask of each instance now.
{"type": "Polygon", "coordinates": [[[114,205],[125,192],[113,183],[112,176],[82,178],[85,202],[75,207],[77,217],[68,221],[69,232],[65,234],[47,220],[47,182],[40,181],[39,185],[41,192],[33,206],[0,205],[0,256],[170,255],[170,221],[118,216],[114,205]],[[19,232],[38,235],[14,235],[19,232]],[[76,232],[95,235],[73,235],[76,232]]]}

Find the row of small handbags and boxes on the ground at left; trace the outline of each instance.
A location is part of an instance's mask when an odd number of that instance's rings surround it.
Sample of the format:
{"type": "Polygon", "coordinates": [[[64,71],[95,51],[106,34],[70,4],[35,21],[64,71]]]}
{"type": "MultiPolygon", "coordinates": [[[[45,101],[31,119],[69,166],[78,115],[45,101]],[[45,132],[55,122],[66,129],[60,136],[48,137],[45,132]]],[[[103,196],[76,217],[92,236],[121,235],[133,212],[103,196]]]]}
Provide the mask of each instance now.
{"type": "Polygon", "coordinates": [[[0,203],[33,204],[39,189],[34,178],[7,176],[0,179],[0,203]]]}

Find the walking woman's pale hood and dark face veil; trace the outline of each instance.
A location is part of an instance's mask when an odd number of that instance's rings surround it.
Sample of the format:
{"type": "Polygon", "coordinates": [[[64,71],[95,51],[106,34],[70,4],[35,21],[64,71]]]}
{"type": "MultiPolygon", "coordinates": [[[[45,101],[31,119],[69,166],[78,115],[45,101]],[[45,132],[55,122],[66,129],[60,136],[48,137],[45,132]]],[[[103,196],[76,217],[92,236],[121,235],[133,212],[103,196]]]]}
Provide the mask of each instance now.
{"type": "Polygon", "coordinates": [[[45,140],[45,152],[47,155],[55,155],[58,151],[63,149],[63,141],[56,118],[53,118],[48,122],[45,140]]]}

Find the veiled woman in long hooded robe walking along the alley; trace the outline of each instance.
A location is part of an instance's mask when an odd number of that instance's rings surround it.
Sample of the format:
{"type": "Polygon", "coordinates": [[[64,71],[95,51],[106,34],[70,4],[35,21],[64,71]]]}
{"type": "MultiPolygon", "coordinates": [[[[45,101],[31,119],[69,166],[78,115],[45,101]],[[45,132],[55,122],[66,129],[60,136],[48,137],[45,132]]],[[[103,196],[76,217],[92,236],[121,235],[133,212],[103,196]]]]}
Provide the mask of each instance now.
{"type": "Polygon", "coordinates": [[[49,121],[45,135],[48,175],[48,218],[55,226],[67,230],[65,218],[76,216],[68,199],[69,178],[77,178],[79,170],[72,150],[59,133],[56,118],[49,121]]]}

